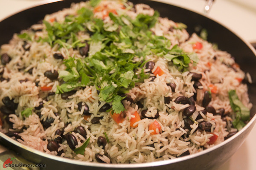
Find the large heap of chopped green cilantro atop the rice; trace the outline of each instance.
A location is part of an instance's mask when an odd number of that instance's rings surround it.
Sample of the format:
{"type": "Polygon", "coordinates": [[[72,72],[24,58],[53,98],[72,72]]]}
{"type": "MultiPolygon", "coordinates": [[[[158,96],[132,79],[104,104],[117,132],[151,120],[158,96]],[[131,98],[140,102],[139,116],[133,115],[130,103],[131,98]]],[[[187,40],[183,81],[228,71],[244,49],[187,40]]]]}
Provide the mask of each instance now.
{"type": "MultiPolygon", "coordinates": [[[[99,0],[90,1],[96,6],[99,0]]],[[[138,14],[132,20],[126,15],[109,13],[112,23],[93,18],[93,12],[81,8],[76,17],[67,17],[64,23],[47,23],[50,45],[56,43],[60,48],[79,48],[85,45],[76,34],[79,31],[90,33],[87,43],[90,45],[88,57],[84,59],[69,57],[64,59],[66,70],[59,71],[59,77],[64,83],[57,87],[57,94],[71,91],[75,88],[95,85],[99,90],[99,99],[112,104],[112,112],[121,113],[122,94],[143,82],[150,75],[144,73],[145,57],[165,57],[178,67],[185,70],[191,60],[198,61],[197,56],[186,54],[177,45],[170,49],[171,42],[163,36],[157,36],[150,31],[157,23],[159,13],[153,16],[138,14]],[[136,60],[135,60],[136,59],[136,60]]]]}

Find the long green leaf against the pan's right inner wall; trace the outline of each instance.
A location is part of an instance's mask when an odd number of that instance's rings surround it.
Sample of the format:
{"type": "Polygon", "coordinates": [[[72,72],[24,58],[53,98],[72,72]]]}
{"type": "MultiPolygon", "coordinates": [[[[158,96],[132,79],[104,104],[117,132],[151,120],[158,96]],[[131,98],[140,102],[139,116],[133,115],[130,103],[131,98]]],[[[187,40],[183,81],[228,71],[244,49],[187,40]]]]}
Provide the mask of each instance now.
{"type": "Polygon", "coordinates": [[[250,110],[239,100],[236,90],[228,91],[228,95],[230,99],[230,106],[234,113],[236,113],[233,126],[237,130],[241,130],[241,128],[245,126],[244,121],[250,120],[250,110]]]}

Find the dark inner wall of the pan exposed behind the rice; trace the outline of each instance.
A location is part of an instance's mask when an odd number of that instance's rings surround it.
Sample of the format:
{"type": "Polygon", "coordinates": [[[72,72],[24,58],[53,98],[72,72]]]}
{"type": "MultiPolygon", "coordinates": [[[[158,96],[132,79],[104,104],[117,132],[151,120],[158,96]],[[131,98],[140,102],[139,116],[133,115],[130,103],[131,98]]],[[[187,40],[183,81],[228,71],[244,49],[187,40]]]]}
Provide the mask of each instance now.
{"type": "MultiPolygon", "coordinates": [[[[71,3],[77,3],[81,0],[63,0],[60,2],[49,3],[42,6],[27,9],[0,22],[0,45],[8,43],[14,33],[19,33],[22,29],[29,28],[32,24],[42,20],[46,14],[51,14],[62,8],[68,8],[71,3]]],[[[228,51],[235,57],[241,69],[249,72],[253,83],[249,84],[250,102],[253,103],[251,116],[256,112],[256,74],[255,64],[256,57],[247,44],[236,34],[217,22],[210,20],[195,12],[179,8],[177,6],[167,5],[149,0],[130,0],[133,3],[145,3],[160,12],[161,17],[168,17],[175,22],[185,23],[189,34],[195,32],[196,26],[201,26],[208,31],[208,41],[218,44],[218,48],[228,51]]],[[[1,141],[2,142],[2,141],[1,141]]],[[[6,143],[6,142],[5,142],[6,143]]],[[[15,150],[20,148],[13,146],[15,150]]],[[[30,156],[28,156],[30,157],[30,156]]],[[[31,158],[32,159],[32,158],[31,158]]],[[[60,167],[59,167],[60,168],[60,167]]],[[[64,166],[62,167],[64,168],[64,166]]],[[[66,167],[67,168],[67,167],[66,167]]],[[[65,169],[65,168],[64,168],[65,169]]],[[[101,168],[100,168],[101,169],[101,168]]],[[[140,169],[140,168],[138,168],[140,169]]]]}

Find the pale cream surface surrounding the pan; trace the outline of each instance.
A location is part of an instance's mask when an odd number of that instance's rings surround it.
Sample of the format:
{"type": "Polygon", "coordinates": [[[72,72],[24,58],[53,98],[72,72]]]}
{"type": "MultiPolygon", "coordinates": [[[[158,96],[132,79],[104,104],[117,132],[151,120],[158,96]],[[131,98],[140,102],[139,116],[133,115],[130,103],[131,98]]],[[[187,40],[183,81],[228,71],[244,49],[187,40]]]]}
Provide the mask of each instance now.
{"type": "MultiPolygon", "coordinates": [[[[0,0],[0,20],[38,3],[56,0],[0,0]]],[[[204,0],[158,0],[203,14],[204,0]]],[[[256,0],[215,0],[209,17],[222,23],[248,42],[256,42],[256,0]]],[[[256,126],[239,150],[218,170],[255,170],[256,126]]]]}

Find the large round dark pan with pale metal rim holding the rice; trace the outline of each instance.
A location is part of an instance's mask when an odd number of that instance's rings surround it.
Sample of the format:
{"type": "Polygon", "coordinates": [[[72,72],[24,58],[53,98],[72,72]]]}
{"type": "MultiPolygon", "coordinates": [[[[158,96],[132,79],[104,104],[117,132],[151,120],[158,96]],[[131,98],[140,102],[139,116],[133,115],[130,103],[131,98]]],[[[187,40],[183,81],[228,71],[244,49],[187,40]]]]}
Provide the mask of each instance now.
{"type": "MultiPolygon", "coordinates": [[[[204,17],[200,14],[197,14],[195,12],[171,6],[166,5],[163,3],[157,3],[157,2],[151,2],[151,1],[145,1],[145,0],[131,0],[133,3],[147,3],[153,8],[156,8],[158,11],[160,11],[161,16],[167,17],[169,16],[170,19],[175,18],[176,22],[183,22],[186,23],[186,25],[189,26],[188,31],[191,34],[193,32],[193,26],[195,25],[201,25],[204,26],[209,31],[209,40],[211,42],[218,42],[219,48],[225,51],[229,51],[233,56],[236,57],[236,61],[241,65],[241,68],[249,72],[252,75],[253,84],[248,85],[249,86],[249,96],[250,100],[253,102],[253,109],[251,111],[251,117],[252,119],[250,122],[236,135],[232,136],[230,139],[227,139],[221,144],[218,144],[215,147],[209,148],[207,150],[204,150],[200,153],[196,153],[189,156],[184,156],[178,159],[172,159],[172,160],[166,160],[166,161],[158,161],[158,162],[152,162],[152,163],[144,163],[144,164],[100,164],[100,163],[91,163],[91,162],[84,162],[84,161],[76,161],[66,158],[60,158],[58,156],[52,156],[47,153],[42,153],[38,150],[32,149],[30,147],[26,147],[23,144],[20,144],[19,142],[10,139],[3,133],[0,133],[0,143],[4,146],[8,147],[9,149],[14,150],[16,153],[18,153],[20,156],[22,156],[25,159],[28,159],[29,161],[35,162],[35,163],[43,163],[46,164],[46,169],[88,169],[88,170],[106,170],[106,169],[133,169],[133,170],[156,170],[157,168],[161,168],[163,170],[210,170],[213,168],[217,168],[221,164],[223,164],[225,161],[227,161],[233,153],[236,152],[236,150],[241,146],[241,144],[244,142],[246,136],[250,133],[250,130],[253,128],[253,125],[256,121],[256,116],[254,115],[256,112],[256,85],[255,85],[255,74],[253,74],[253,71],[255,70],[255,63],[256,63],[256,51],[252,48],[251,45],[249,45],[248,42],[241,40],[239,36],[234,34],[232,31],[228,30],[227,28],[224,28],[217,22],[210,20],[207,17],[204,17]],[[160,10],[159,10],[160,9],[160,10]],[[177,11],[180,11],[180,13],[177,13],[177,11]],[[173,12],[176,14],[186,14],[186,16],[189,16],[188,19],[186,17],[177,17],[173,16],[173,12]],[[172,17],[173,16],[173,17],[172,17]],[[190,20],[190,21],[189,21],[190,20]],[[189,21],[189,22],[186,22],[189,21]],[[219,36],[216,35],[216,31],[219,33],[219,36]],[[222,40],[224,38],[224,40],[222,40]],[[222,41],[221,41],[222,40],[222,41]],[[220,42],[220,43],[219,43],[220,42]]],[[[73,0],[72,2],[79,2],[79,0],[73,0]]],[[[24,16],[27,14],[31,14],[31,12],[38,11],[43,13],[40,15],[44,16],[46,13],[46,9],[48,9],[49,13],[52,13],[52,11],[58,11],[62,7],[68,7],[71,1],[65,0],[57,3],[52,4],[46,4],[43,6],[37,6],[33,9],[27,9],[25,12],[22,11],[18,14],[13,15],[10,18],[7,18],[6,20],[3,20],[0,22],[0,32],[3,32],[6,30],[6,28],[9,28],[9,26],[13,26],[13,23],[7,24],[7,21],[10,19],[10,21],[20,19],[26,20],[25,24],[21,27],[17,26],[16,31],[10,30],[10,32],[15,33],[20,31],[21,29],[28,28],[33,23],[36,23],[38,21],[38,18],[33,19],[25,19],[24,16]],[[64,5],[63,5],[64,4],[64,5]],[[23,19],[22,19],[23,18],[23,19]],[[3,25],[4,23],[4,25],[3,25]],[[29,24],[29,25],[28,25],[29,24]]],[[[10,22],[9,21],[9,22],[10,22]]],[[[12,35],[12,34],[8,34],[12,35]]],[[[8,36],[2,38],[0,40],[0,45],[3,43],[6,43],[8,41],[8,36]]]]}

